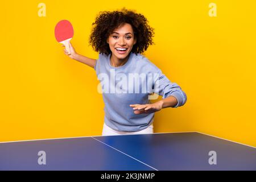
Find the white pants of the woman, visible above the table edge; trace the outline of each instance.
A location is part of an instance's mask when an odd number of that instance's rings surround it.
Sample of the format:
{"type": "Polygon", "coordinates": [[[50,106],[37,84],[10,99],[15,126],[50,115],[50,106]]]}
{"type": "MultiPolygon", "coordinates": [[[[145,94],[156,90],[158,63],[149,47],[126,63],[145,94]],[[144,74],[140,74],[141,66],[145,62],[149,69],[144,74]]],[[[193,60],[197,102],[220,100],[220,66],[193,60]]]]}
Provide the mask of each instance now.
{"type": "Polygon", "coordinates": [[[108,125],[104,123],[103,130],[102,130],[102,136],[109,136],[109,135],[126,135],[126,134],[153,134],[154,133],[154,126],[153,123],[148,126],[146,129],[141,131],[135,131],[135,132],[125,132],[125,131],[117,131],[112,128],[110,128],[108,125]]]}

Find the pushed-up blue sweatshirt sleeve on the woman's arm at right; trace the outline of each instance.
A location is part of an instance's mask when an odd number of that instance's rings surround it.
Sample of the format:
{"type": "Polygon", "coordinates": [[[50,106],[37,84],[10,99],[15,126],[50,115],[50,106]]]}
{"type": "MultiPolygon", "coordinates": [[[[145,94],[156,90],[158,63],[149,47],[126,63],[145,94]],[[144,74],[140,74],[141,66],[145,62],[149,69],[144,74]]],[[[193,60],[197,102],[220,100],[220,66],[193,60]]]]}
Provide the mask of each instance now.
{"type": "Polygon", "coordinates": [[[162,98],[167,98],[169,96],[174,96],[177,99],[178,104],[174,107],[180,107],[187,101],[187,95],[180,86],[175,82],[171,82],[163,73],[158,70],[158,76],[155,82],[155,93],[163,96],[162,98]]]}

